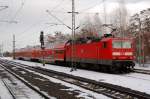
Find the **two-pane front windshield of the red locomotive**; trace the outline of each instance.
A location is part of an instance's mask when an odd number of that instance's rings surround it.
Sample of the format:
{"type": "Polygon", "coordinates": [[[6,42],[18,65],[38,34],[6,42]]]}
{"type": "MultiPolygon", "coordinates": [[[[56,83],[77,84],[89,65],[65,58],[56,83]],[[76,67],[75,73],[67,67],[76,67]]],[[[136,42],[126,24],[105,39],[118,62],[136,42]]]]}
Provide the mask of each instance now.
{"type": "Polygon", "coordinates": [[[113,41],[113,48],[131,48],[131,41],[113,41]]]}

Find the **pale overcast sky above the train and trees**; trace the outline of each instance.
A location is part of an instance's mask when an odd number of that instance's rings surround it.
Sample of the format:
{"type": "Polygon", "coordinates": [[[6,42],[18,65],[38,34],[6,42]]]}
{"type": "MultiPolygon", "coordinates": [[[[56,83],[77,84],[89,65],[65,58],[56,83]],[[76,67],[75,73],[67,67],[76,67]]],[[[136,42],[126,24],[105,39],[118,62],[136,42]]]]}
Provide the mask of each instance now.
{"type": "MultiPolygon", "coordinates": [[[[150,6],[150,0],[125,0],[130,15],[146,9],[150,6]]],[[[77,25],[87,14],[99,12],[103,16],[103,0],[75,0],[76,11],[82,12],[76,15],[77,25]]],[[[118,0],[105,0],[106,12],[110,13],[118,4],[118,0]]],[[[51,26],[48,23],[59,23],[51,17],[49,10],[71,26],[71,0],[0,0],[0,44],[4,50],[12,50],[12,37],[16,36],[16,47],[36,45],[39,43],[39,34],[43,30],[45,34],[54,31],[70,33],[65,26],[51,26]],[[14,21],[14,22],[13,22],[14,21]],[[17,23],[15,23],[17,22],[17,23]]]]}

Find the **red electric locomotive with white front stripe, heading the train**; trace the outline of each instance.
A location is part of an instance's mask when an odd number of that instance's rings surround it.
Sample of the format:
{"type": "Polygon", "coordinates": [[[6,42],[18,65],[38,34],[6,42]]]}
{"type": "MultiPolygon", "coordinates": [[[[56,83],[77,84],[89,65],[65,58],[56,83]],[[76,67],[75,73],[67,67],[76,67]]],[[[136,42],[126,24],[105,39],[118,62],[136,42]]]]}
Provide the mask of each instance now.
{"type": "Polygon", "coordinates": [[[133,51],[131,39],[105,35],[96,41],[88,39],[84,43],[75,42],[73,46],[71,42],[67,42],[65,58],[66,62],[73,60],[82,64],[94,64],[104,71],[124,71],[135,65],[133,51]]]}

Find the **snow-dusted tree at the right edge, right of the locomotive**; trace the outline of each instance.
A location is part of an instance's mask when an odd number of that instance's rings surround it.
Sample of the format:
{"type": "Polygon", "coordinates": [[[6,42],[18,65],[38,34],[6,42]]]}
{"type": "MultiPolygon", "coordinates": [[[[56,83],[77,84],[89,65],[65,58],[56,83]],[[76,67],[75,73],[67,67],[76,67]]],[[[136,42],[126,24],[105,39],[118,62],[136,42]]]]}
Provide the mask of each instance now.
{"type": "Polygon", "coordinates": [[[136,53],[140,49],[143,53],[143,60],[150,60],[150,9],[140,11],[131,16],[129,31],[135,37],[136,48],[138,48],[136,53]]]}

